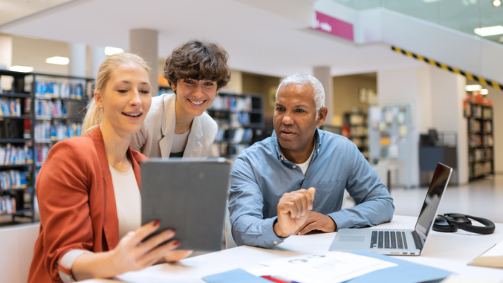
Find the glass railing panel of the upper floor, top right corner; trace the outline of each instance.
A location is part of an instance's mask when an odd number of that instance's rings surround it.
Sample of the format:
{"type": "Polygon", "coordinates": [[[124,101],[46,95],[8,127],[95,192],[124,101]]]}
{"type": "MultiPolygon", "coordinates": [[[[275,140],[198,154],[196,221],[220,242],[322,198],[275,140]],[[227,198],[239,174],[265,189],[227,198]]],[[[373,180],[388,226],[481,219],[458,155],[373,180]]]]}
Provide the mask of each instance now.
{"type": "Polygon", "coordinates": [[[382,7],[503,44],[503,0],[333,0],[355,10],[382,7]]]}

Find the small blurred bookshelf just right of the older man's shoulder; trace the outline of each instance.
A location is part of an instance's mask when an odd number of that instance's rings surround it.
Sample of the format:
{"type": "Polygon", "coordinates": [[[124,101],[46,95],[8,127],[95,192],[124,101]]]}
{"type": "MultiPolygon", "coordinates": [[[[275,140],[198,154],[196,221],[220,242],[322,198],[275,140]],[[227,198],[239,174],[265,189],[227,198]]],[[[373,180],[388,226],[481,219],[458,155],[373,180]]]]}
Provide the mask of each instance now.
{"type": "Polygon", "coordinates": [[[354,109],[345,113],[342,134],[355,143],[365,158],[369,158],[369,127],[365,112],[354,109]]]}

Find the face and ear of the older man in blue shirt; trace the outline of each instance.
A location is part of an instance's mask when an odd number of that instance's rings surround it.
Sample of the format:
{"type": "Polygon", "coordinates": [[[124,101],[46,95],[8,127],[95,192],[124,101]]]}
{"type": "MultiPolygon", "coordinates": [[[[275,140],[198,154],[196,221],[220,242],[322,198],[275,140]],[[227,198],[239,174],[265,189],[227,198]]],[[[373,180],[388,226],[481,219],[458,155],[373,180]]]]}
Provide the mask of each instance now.
{"type": "Polygon", "coordinates": [[[309,157],[313,149],[316,126],[325,121],[326,111],[319,112],[316,120],[314,89],[310,84],[294,83],[280,87],[274,108],[274,130],[283,154],[298,155],[308,152],[309,157]]]}

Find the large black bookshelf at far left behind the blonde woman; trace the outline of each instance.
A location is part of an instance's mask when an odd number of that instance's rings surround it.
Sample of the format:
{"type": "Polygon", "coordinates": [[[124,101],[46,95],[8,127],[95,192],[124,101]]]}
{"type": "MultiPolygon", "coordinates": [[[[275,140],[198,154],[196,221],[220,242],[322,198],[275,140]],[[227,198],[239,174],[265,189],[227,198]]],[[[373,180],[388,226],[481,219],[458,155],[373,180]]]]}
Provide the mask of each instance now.
{"type": "Polygon", "coordinates": [[[0,216],[35,221],[35,182],[50,148],[80,135],[94,80],[0,70],[0,216]]]}

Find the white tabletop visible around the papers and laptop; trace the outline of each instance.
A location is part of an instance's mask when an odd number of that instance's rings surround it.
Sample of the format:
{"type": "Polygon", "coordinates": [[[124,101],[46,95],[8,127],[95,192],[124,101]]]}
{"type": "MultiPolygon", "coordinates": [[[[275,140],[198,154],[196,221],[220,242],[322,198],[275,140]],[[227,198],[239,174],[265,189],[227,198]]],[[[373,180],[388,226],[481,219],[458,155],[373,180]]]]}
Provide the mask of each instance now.
{"type": "MultiPolygon", "coordinates": [[[[413,229],[416,218],[394,216],[391,223],[378,228],[413,229]]],[[[375,228],[375,227],[373,227],[375,228]]],[[[369,228],[372,229],[372,228],[369,228]]],[[[201,277],[235,268],[259,268],[257,262],[266,259],[288,257],[328,251],[336,233],[291,236],[275,249],[241,246],[208,253],[182,260],[179,264],[161,264],[142,271],[130,272],[131,282],[204,282],[201,277]]],[[[458,231],[439,233],[432,231],[421,256],[397,256],[400,259],[421,263],[478,278],[503,278],[503,269],[467,265],[472,259],[503,240],[503,224],[496,224],[491,235],[478,235],[458,231]]],[[[85,282],[112,282],[111,280],[87,280],[85,282]]]]}

